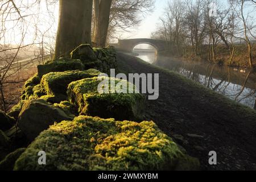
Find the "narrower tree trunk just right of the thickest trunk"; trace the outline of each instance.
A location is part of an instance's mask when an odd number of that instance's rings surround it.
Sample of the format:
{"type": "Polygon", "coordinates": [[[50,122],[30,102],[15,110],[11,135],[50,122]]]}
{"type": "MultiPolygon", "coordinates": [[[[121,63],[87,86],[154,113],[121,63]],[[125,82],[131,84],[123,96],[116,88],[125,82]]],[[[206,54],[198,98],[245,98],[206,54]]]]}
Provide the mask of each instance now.
{"type": "Polygon", "coordinates": [[[106,46],[111,3],[112,0],[94,0],[93,42],[99,47],[106,46]]]}

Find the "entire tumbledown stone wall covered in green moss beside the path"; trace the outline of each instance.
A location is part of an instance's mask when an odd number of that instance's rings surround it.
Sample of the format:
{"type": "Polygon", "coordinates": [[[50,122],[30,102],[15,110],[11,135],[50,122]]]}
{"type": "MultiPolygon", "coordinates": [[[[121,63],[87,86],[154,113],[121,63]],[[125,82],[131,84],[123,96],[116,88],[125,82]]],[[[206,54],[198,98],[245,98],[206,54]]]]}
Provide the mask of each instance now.
{"type": "MultiPolygon", "coordinates": [[[[10,150],[21,147],[26,150],[6,156],[0,168],[199,168],[198,160],[181,152],[153,121],[142,121],[142,94],[119,93],[111,88],[109,93],[98,92],[97,76],[109,73],[111,68],[117,68],[114,48],[92,48],[88,44],[72,51],[70,59],[60,58],[39,65],[38,73],[24,84],[20,102],[9,113],[16,123],[9,126],[10,130],[1,131],[2,143],[8,143],[3,147],[16,143],[10,150]],[[47,155],[45,166],[38,165],[38,152],[42,150],[47,155]]],[[[126,80],[109,80],[130,86],[126,80]]]]}

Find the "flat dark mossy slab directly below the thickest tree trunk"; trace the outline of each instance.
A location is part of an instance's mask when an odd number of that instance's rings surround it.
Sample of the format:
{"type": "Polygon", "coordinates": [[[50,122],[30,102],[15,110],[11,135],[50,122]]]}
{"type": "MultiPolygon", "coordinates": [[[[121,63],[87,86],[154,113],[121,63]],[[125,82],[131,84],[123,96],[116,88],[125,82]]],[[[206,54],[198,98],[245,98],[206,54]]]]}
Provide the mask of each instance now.
{"type": "Polygon", "coordinates": [[[59,59],[48,64],[38,65],[38,76],[40,78],[50,72],[64,72],[72,70],[84,70],[84,64],[80,60],[59,59]]]}

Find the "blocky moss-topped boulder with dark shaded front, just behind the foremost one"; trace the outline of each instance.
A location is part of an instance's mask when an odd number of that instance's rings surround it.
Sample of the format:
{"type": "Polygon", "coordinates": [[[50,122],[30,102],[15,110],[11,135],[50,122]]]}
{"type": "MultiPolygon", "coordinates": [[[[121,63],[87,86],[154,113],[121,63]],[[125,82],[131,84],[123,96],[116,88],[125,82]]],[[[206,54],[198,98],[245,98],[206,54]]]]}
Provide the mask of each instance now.
{"type": "Polygon", "coordinates": [[[80,114],[98,116],[101,118],[115,118],[117,120],[139,120],[144,107],[142,94],[129,94],[129,88],[135,89],[133,84],[126,80],[109,79],[109,92],[98,92],[101,79],[107,77],[86,78],[75,81],[68,86],[68,98],[71,104],[78,107],[80,114]],[[127,85],[127,93],[119,93],[118,88],[111,88],[110,82],[115,85],[127,85]]]}

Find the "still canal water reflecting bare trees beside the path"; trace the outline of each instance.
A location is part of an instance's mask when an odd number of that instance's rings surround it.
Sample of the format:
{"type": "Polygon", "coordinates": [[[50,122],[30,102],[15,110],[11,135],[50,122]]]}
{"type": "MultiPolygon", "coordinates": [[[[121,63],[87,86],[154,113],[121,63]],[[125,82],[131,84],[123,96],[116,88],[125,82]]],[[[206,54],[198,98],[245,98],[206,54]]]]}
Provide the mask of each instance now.
{"type": "Polygon", "coordinates": [[[183,61],[136,51],[137,57],[150,64],[175,71],[193,81],[251,108],[255,107],[256,73],[202,61],[183,61]]]}

